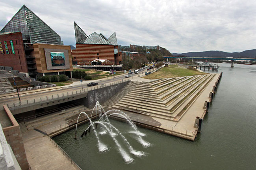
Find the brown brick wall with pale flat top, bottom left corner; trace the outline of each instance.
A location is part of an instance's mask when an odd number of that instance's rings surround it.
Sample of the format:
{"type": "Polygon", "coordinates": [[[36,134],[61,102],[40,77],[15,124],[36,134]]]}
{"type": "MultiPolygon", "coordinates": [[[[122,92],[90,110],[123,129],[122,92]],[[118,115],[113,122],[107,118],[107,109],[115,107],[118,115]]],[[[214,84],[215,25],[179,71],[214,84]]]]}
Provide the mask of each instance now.
{"type": "Polygon", "coordinates": [[[4,110],[11,121],[13,126],[3,128],[4,136],[6,137],[7,143],[11,146],[11,149],[13,150],[13,154],[15,155],[20,168],[22,170],[28,169],[28,160],[24,148],[24,144],[22,141],[22,135],[20,132],[20,126],[11,114],[9,108],[7,105],[4,105],[4,110]]]}

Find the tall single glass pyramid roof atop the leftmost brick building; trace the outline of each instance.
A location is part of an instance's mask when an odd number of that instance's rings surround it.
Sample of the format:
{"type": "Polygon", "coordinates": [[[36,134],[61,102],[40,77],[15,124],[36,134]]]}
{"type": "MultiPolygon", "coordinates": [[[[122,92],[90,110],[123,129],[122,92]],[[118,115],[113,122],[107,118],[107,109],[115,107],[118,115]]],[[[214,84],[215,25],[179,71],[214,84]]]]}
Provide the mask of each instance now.
{"type": "Polygon", "coordinates": [[[23,5],[0,33],[21,32],[28,43],[46,43],[61,45],[60,36],[43,20],[23,5]]]}

